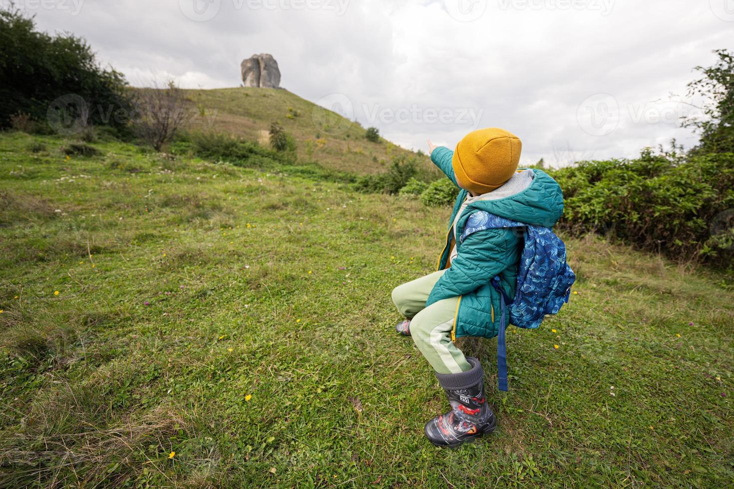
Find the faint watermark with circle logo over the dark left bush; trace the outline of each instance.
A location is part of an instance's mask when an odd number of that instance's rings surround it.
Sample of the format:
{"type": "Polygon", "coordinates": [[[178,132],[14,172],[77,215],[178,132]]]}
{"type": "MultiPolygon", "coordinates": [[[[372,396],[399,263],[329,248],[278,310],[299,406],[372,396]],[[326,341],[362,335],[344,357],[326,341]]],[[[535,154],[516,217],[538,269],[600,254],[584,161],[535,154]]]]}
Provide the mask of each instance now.
{"type": "Polygon", "coordinates": [[[97,104],[90,106],[84,98],[75,93],[68,93],[55,99],[48,105],[46,110],[46,121],[48,126],[62,136],[73,136],[79,134],[90,120],[103,125],[115,122],[116,125],[133,125],[141,122],[144,118],[150,118],[154,111],[157,117],[164,118],[164,111],[177,111],[181,114],[184,124],[190,126],[200,125],[204,129],[211,129],[217,120],[217,109],[208,110],[201,107],[181,106],[172,109],[159,106],[146,106],[137,104],[132,109],[123,109],[120,106],[97,104]]]}

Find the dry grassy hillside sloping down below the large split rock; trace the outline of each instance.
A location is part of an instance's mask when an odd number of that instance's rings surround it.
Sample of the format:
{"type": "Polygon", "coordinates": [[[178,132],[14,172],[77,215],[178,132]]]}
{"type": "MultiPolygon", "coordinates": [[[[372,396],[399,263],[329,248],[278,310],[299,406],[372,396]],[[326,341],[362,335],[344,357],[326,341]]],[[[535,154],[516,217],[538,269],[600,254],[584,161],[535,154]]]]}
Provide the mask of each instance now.
{"type": "MultiPolygon", "coordinates": [[[[228,88],[186,90],[195,106],[191,130],[214,130],[267,144],[273,121],[280,122],[297,142],[302,161],[357,174],[380,172],[397,155],[418,156],[386,139],[365,139],[365,128],[286,89],[228,88]]],[[[420,157],[425,168],[431,163],[420,157]]]]}

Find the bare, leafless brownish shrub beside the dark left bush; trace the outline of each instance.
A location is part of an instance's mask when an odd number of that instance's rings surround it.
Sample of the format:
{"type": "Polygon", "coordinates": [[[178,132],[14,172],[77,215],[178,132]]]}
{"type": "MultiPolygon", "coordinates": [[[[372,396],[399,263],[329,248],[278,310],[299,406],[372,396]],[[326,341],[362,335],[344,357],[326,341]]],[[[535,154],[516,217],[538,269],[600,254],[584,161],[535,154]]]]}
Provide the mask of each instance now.
{"type": "Polygon", "coordinates": [[[170,80],[167,87],[139,89],[133,99],[134,128],[156,151],[175,136],[186,122],[186,99],[183,90],[170,80]]]}

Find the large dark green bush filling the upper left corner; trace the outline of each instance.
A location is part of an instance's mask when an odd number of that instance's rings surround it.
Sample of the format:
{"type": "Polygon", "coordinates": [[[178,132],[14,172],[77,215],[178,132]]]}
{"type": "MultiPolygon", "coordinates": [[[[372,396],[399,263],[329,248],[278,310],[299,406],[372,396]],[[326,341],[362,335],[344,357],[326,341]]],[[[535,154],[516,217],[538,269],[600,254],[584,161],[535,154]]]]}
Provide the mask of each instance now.
{"type": "Polygon", "coordinates": [[[0,8],[0,45],[0,128],[10,125],[12,114],[47,122],[51,107],[64,128],[65,121],[78,121],[80,127],[128,122],[109,117],[120,109],[130,113],[125,78],[101,68],[81,37],[37,32],[33,17],[11,4],[0,8]]]}

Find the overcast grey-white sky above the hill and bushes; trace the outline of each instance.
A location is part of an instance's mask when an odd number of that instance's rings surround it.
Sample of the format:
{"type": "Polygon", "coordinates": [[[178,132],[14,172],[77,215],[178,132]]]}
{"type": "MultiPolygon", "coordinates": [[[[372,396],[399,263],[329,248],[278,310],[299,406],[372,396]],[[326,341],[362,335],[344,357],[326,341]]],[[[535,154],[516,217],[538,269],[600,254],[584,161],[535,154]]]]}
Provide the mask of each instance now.
{"type": "MultiPolygon", "coordinates": [[[[7,4],[5,0],[0,3],[7,4]]],[[[631,157],[676,138],[692,68],[734,49],[734,0],[21,0],[136,86],[237,87],[270,53],[281,86],[404,147],[470,130],[523,163],[631,157]]]]}

